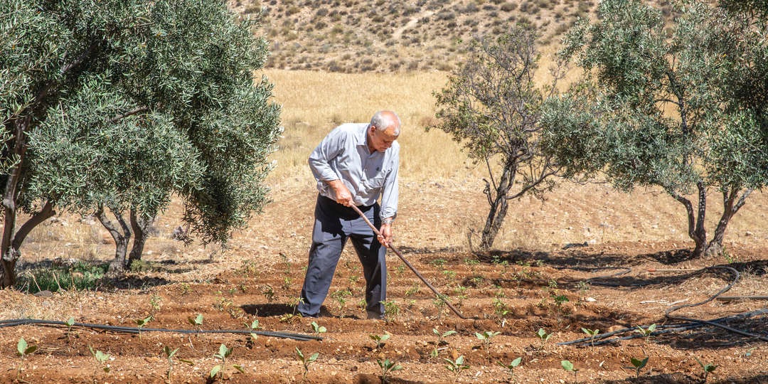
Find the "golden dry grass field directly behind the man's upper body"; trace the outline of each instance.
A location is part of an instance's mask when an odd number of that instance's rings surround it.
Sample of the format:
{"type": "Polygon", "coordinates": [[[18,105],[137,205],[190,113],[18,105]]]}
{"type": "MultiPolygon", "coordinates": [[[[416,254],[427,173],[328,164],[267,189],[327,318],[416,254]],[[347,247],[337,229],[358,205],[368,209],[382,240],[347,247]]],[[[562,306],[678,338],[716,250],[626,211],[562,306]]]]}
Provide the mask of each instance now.
{"type": "Polygon", "coordinates": [[[270,180],[311,180],[306,159],[317,143],[336,125],[369,121],[381,109],[396,111],[402,120],[401,174],[406,180],[439,180],[467,172],[465,155],[447,134],[424,130],[435,115],[432,91],[445,84],[443,73],[267,70],[265,74],[275,84],[285,127],[270,180]]]}

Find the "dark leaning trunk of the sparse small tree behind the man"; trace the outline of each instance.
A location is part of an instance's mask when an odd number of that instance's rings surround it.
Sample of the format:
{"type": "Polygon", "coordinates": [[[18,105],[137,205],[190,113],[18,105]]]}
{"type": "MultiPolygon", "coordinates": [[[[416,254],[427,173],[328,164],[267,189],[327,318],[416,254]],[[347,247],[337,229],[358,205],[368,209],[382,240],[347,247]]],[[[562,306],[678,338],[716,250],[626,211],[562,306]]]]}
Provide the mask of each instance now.
{"type": "Polygon", "coordinates": [[[514,161],[508,161],[505,164],[502,171],[502,177],[498,180],[498,184],[491,185],[488,181],[485,181],[485,196],[488,197],[488,217],[485,219],[485,227],[482,230],[482,236],[480,240],[480,249],[488,250],[493,246],[493,241],[496,239],[498,230],[502,228],[504,218],[507,216],[507,208],[509,207],[507,194],[515,182],[515,163],[514,161]],[[492,190],[493,189],[493,190],[492,190]]]}

